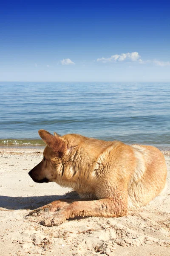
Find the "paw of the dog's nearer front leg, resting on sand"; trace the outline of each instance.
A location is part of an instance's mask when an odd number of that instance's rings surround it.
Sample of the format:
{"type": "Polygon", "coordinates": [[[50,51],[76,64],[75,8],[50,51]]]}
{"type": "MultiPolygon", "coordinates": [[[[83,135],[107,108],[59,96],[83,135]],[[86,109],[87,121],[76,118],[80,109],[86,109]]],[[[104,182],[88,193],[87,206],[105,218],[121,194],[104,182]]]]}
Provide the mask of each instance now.
{"type": "Polygon", "coordinates": [[[59,224],[62,224],[65,219],[64,214],[54,213],[41,221],[41,224],[45,227],[58,226],[59,224]]]}

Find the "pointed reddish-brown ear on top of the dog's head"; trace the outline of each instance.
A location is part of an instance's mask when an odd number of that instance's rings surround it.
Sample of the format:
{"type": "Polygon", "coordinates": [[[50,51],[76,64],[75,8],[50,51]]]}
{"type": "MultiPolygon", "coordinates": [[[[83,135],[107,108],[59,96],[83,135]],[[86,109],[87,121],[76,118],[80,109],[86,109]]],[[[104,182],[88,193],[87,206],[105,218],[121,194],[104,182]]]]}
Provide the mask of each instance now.
{"type": "Polygon", "coordinates": [[[57,136],[56,134],[54,136],[45,130],[39,130],[38,133],[41,139],[52,149],[52,151],[64,154],[67,150],[66,143],[61,138],[58,137],[58,134],[57,136]]]}

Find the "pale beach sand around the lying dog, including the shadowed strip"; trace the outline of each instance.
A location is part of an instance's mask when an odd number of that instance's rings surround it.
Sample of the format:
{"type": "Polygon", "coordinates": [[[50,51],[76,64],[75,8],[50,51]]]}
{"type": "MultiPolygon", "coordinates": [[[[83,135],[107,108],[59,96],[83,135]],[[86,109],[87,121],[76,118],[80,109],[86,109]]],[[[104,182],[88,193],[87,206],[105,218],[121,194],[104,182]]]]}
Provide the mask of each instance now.
{"type": "Polygon", "coordinates": [[[43,227],[31,209],[76,194],[28,176],[42,159],[40,149],[0,149],[0,256],[170,255],[170,152],[167,189],[145,207],[121,218],[77,218],[43,227]]]}

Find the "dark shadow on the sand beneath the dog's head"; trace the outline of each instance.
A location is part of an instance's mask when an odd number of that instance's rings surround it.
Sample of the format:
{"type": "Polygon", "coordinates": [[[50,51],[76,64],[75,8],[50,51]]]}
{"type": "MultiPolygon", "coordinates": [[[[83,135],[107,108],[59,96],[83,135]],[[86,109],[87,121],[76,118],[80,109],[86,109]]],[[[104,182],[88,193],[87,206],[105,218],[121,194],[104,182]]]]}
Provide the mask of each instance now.
{"type": "Polygon", "coordinates": [[[11,197],[0,195],[0,207],[10,210],[19,209],[36,209],[45,204],[59,199],[79,198],[78,194],[74,191],[68,192],[65,195],[44,195],[44,196],[28,196],[28,197],[11,197]]]}

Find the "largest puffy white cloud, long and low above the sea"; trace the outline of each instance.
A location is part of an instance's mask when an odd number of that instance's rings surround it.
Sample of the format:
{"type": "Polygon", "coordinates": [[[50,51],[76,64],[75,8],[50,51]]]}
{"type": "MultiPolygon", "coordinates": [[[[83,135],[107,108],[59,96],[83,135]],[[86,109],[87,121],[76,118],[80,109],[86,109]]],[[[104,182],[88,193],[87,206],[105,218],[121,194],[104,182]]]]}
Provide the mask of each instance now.
{"type": "Polygon", "coordinates": [[[127,52],[127,53],[121,53],[120,55],[115,54],[112,55],[110,58],[98,58],[97,61],[102,61],[103,63],[106,62],[116,62],[116,61],[139,61],[140,55],[138,52],[127,52]]]}

